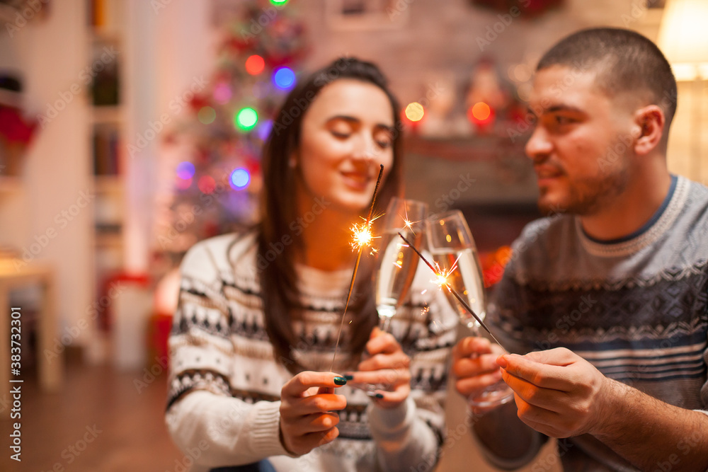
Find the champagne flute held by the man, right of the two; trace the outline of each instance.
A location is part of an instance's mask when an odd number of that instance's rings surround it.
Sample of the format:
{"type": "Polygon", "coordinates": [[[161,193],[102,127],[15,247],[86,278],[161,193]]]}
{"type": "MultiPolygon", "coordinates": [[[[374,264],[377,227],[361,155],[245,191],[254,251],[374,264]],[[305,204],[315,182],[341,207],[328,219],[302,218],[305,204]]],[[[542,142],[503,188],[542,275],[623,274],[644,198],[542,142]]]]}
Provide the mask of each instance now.
{"type": "MultiPolygon", "coordinates": [[[[433,260],[440,270],[447,275],[447,284],[455,289],[467,301],[474,313],[484,321],[486,314],[486,300],[484,294],[484,279],[482,277],[477,249],[469,231],[467,221],[459,210],[451,210],[442,214],[433,215],[428,220],[428,245],[433,260]],[[453,267],[455,267],[453,269],[453,267]]],[[[471,334],[481,334],[479,323],[474,319],[462,304],[447,291],[445,296],[450,304],[455,307],[459,320],[467,326],[471,334]]],[[[498,381],[487,387],[481,395],[468,398],[472,408],[491,408],[496,405],[508,403],[514,398],[513,391],[504,383],[498,381]]]]}

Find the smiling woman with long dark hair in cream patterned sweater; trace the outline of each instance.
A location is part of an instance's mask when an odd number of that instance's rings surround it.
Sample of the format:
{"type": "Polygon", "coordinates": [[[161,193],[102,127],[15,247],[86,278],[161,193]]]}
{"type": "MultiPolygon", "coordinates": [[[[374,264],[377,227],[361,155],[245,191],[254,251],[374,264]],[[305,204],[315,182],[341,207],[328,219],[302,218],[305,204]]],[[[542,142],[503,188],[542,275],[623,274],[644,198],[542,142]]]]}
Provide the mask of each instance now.
{"type": "Polygon", "coordinates": [[[435,464],[455,340],[455,321],[438,322],[435,300],[412,290],[400,343],[382,333],[372,258],[362,257],[329,372],[355,260],[350,226],[367,214],[380,164],[377,208],[399,193],[400,129],[379,69],[338,59],[299,84],[277,115],[263,156],[260,226],[185,255],[167,424],[194,471],[259,461],[248,470],[435,464]],[[367,396],[352,384],[389,387],[367,396]]]}

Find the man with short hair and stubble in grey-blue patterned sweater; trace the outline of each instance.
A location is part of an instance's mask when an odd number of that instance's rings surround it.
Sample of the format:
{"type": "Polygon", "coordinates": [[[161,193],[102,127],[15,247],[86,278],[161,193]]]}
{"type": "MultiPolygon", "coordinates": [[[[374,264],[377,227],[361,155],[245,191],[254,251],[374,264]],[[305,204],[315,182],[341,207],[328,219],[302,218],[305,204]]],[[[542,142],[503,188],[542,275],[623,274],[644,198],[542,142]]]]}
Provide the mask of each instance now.
{"type": "Polygon", "coordinates": [[[675,96],[629,30],[583,30],[538,64],[526,152],[552,216],[515,241],[488,313],[527,354],[465,338],[453,364],[465,396],[514,391],[476,412],[499,466],[530,461],[542,433],[569,438],[568,471],[708,468],[708,189],[667,170],[675,96]]]}

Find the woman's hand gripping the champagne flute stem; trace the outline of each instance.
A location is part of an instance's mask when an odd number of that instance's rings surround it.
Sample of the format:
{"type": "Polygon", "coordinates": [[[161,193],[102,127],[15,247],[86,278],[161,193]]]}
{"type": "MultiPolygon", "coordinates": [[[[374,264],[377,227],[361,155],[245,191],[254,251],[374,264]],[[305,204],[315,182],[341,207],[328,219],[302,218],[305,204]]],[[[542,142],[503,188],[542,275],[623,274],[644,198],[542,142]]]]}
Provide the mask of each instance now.
{"type": "Polygon", "coordinates": [[[378,390],[375,403],[382,408],[395,408],[411,393],[411,359],[390,333],[374,328],[366,351],[371,355],[358,365],[357,372],[349,372],[347,379],[356,384],[383,384],[387,391],[378,390]]]}

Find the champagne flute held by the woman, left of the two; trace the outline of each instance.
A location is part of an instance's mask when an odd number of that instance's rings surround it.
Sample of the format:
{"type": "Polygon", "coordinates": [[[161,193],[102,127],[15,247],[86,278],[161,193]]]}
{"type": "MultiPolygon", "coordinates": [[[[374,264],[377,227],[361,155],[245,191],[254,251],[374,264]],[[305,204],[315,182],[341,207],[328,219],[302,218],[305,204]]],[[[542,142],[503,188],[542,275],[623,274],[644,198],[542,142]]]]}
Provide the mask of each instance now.
{"type": "MultiPolygon", "coordinates": [[[[377,260],[373,273],[376,311],[379,328],[391,330],[392,318],[409,299],[411,284],[418,269],[418,255],[398,236],[404,234],[419,246],[423,242],[428,217],[428,205],[416,200],[394,197],[384,214],[382,236],[377,244],[377,260]]],[[[364,390],[372,396],[376,390],[387,390],[388,385],[365,384],[364,390]]]]}

